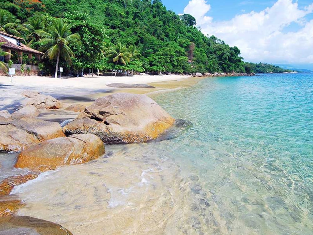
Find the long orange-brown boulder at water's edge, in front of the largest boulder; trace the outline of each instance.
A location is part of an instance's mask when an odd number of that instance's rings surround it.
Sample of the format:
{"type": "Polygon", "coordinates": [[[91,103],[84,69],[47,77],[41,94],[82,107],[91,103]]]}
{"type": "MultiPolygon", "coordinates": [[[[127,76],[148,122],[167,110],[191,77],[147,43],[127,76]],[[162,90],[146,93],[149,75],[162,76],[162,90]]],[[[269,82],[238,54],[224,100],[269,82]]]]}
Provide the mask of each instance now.
{"type": "Polygon", "coordinates": [[[93,134],[74,134],[33,145],[18,155],[17,168],[44,172],[60,165],[80,164],[104,154],[103,142],[93,134]]]}

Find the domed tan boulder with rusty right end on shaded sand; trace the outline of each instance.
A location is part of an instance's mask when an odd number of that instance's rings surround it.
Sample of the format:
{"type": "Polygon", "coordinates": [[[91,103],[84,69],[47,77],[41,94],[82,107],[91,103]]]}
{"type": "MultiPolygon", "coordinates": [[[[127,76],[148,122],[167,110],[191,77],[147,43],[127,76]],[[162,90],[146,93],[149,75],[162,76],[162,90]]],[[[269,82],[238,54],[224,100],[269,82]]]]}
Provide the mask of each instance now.
{"type": "Polygon", "coordinates": [[[38,109],[59,109],[63,105],[52,96],[37,95],[27,105],[33,105],[38,109]]]}

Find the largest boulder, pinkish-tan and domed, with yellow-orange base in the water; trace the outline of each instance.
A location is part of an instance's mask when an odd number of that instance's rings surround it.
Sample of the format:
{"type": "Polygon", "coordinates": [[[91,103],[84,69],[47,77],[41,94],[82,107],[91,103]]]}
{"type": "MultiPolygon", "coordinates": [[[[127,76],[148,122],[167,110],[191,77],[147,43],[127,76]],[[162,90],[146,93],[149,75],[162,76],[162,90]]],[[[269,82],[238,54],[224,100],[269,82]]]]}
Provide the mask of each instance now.
{"type": "Polygon", "coordinates": [[[66,135],[93,133],[108,144],[156,139],[175,119],[145,95],[116,93],[97,99],[64,126],[66,135]]]}

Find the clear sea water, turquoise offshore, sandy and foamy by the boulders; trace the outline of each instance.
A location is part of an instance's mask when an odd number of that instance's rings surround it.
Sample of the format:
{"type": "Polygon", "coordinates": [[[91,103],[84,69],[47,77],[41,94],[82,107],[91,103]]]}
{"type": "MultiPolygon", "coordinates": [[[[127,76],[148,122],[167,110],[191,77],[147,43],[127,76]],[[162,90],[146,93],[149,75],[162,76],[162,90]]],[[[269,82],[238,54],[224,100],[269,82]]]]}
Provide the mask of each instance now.
{"type": "Polygon", "coordinates": [[[312,75],[208,78],[152,98],[192,128],[44,173],[14,190],[19,214],[75,235],[313,233],[312,75]]]}

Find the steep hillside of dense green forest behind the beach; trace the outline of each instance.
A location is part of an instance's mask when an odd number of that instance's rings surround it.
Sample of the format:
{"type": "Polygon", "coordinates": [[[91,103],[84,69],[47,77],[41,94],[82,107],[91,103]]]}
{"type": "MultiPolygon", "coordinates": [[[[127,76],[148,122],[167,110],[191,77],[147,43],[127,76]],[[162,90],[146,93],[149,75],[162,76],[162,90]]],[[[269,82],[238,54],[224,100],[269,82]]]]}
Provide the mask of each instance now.
{"type": "MultiPolygon", "coordinates": [[[[43,31],[49,33],[54,17],[63,18],[71,33],[80,35],[80,43],[68,44],[72,64],[61,55],[68,70],[245,72],[237,47],[204,36],[191,15],[178,16],[160,0],[2,0],[0,8],[8,15],[0,28],[11,34],[16,30],[39,50],[43,31]]],[[[52,70],[55,60],[52,56],[44,64],[52,70]]]]}

